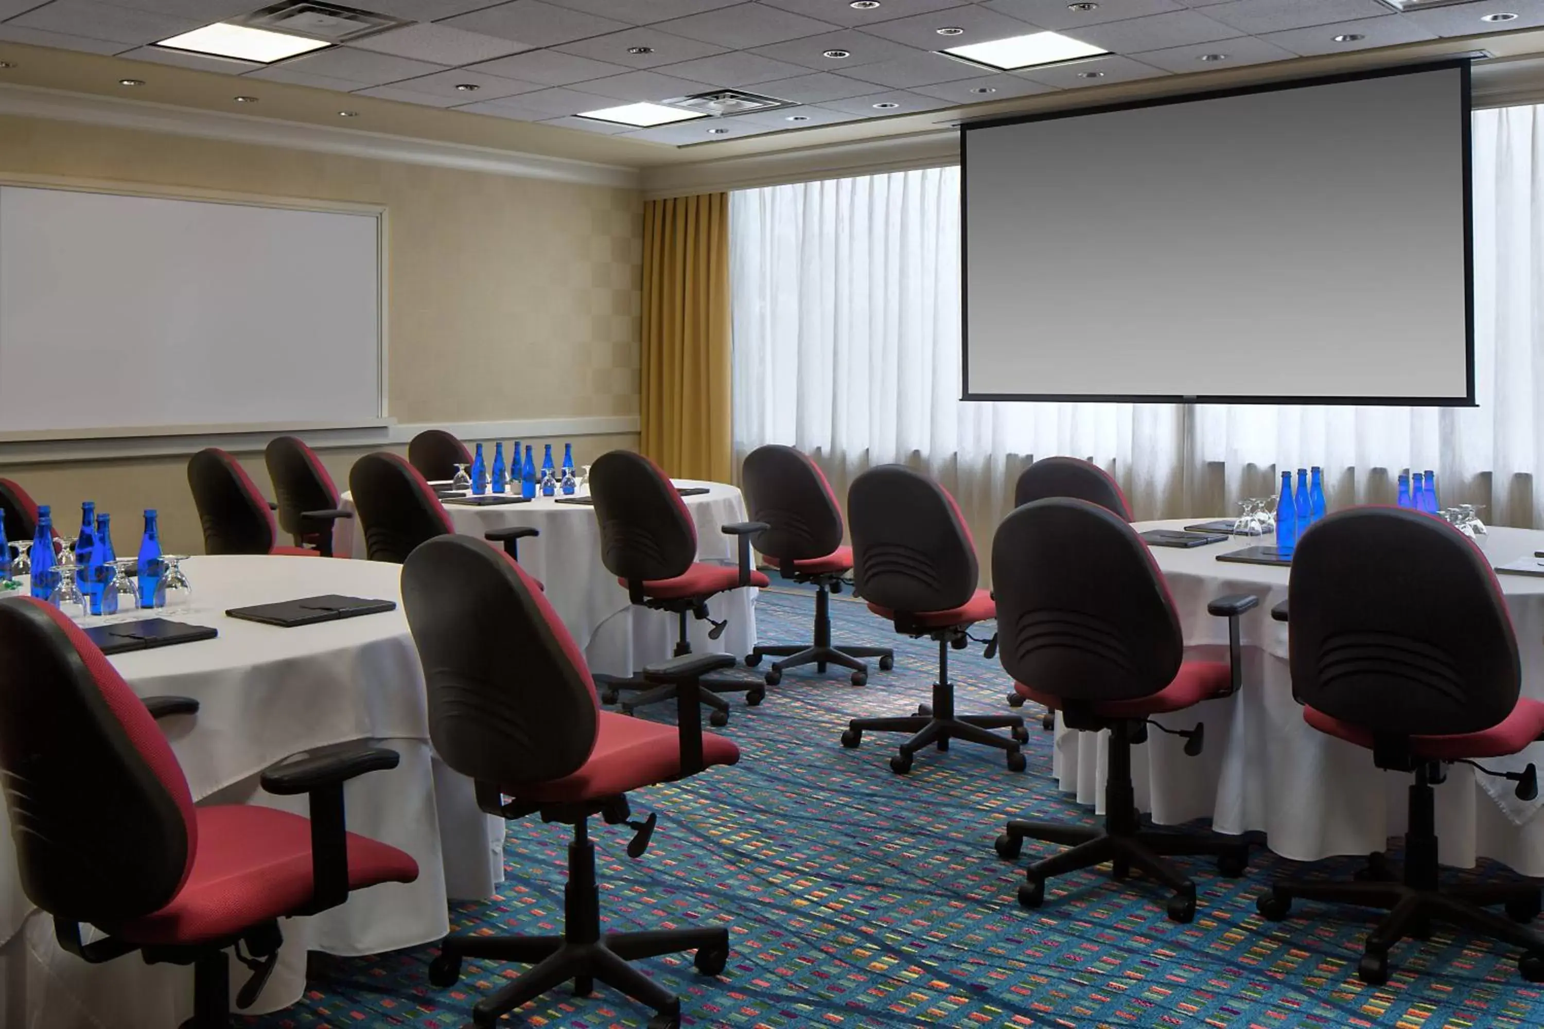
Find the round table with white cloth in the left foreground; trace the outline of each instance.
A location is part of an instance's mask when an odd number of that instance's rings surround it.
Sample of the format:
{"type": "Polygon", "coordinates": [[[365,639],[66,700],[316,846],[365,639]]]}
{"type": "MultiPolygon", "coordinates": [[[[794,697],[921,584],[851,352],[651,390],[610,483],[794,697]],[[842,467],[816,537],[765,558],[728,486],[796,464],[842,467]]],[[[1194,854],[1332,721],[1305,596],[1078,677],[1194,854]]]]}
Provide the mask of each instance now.
{"type": "MultiPolygon", "coordinates": [[[[199,702],[196,716],[162,719],[195,801],[264,804],[304,815],[306,796],[261,791],[262,768],[303,750],[357,741],[401,754],[397,768],[349,782],[347,825],[411,853],[418,881],[378,886],[321,915],[281,923],[278,969],[252,1009],[273,1010],[301,997],[306,950],[364,955],[442,938],[449,929],[448,898],[486,898],[502,881],[503,824],[483,815],[471,781],[431,751],[423,674],[400,608],[398,566],[264,555],[190,557],[182,568],[191,603],[156,614],[213,626],[219,637],[111,662],[142,697],[174,694],[199,702]],[[398,608],[300,628],[224,614],[320,594],[392,600],[398,608]]],[[[8,830],[6,822],[0,807],[8,830]]],[[[244,973],[232,963],[232,995],[244,973]]],[[[60,950],[52,919],[22,892],[14,859],[0,862],[0,977],[8,1026],[165,1029],[191,1014],[188,967],[147,966],[133,955],[91,966],[60,950]]]]}

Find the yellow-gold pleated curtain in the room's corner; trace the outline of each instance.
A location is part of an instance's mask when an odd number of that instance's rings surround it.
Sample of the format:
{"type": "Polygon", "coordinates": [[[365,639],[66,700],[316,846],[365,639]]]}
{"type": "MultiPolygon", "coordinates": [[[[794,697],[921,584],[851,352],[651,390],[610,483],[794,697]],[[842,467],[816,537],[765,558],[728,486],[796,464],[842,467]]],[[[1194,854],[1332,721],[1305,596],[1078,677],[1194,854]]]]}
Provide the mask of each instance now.
{"type": "Polygon", "coordinates": [[[642,449],[676,478],[727,483],[729,194],[644,205],[642,449]]]}

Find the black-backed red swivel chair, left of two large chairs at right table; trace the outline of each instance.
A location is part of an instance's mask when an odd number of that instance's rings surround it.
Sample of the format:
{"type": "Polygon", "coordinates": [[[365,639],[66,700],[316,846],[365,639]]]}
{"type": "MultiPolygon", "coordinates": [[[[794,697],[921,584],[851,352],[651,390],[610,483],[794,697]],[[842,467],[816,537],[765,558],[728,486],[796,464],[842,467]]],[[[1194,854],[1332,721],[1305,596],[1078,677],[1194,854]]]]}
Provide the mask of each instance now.
{"type": "MultiPolygon", "coordinates": [[[[1294,575],[1295,575],[1294,569],[1294,575]]],[[[1085,500],[1038,500],[997,526],[991,546],[999,660],[1019,693],[1061,711],[1068,728],[1109,730],[1104,827],[1010,821],[997,855],[1019,855],[1025,838],[1070,844],[1024,873],[1019,902],[1039,907],[1045,879],[1109,862],[1115,879],[1139,870],[1173,890],[1169,918],[1195,916],[1195,882],[1164,858],[1212,855],[1224,876],[1243,875],[1249,849],[1207,832],[1144,828],[1132,787],[1132,747],[1149,730],[1184,737],[1197,756],[1204,724],[1173,730],[1152,720],[1238,690],[1238,619],[1260,603],[1238,594],[1207,611],[1227,619],[1229,660],[1186,660],[1180,616],[1147,545],[1118,514],[1085,500]]]]}

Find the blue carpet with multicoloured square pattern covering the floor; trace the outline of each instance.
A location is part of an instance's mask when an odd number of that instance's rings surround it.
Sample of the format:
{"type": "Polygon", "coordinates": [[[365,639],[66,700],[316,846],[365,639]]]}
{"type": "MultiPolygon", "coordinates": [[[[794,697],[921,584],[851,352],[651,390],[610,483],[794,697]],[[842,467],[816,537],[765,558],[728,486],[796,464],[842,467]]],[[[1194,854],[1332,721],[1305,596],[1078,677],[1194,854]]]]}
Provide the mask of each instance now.
{"type": "MultiPolygon", "coordinates": [[[[736,702],[724,730],[741,764],[633,795],[635,818],[659,813],[648,853],[625,855],[630,830],[596,822],[607,930],[699,923],[730,926],[721,978],[701,978],[690,955],[641,964],[681,995],[682,1026],[794,1029],[829,1026],[1068,1029],[1210,1026],[1217,1029],[1532,1029],[1544,1026],[1544,989],[1516,973],[1516,955],[1437,927],[1394,952],[1387,986],[1356,975],[1373,913],[1299,902],[1266,923],[1254,898],[1275,875],[1346,876],[1354,861],[1297,865],[1257,847],[1241,879],[1192,865],[1195,921],[1163,913],[1139,881],[1085,872],[1051,879],[1045,906],[1019,907],[1034,842],[1001,861],[993,839],[1008,818],[1082,819],[1089,808],[1050,776],[1051,734],[1031,727],[1028,770],[996,750],[953,744],[889,770],[900,737],[838,736],[846,719],[908,714],[926,702],[936,649],[894,637],[862,603],[834,599],[838,645],[894,645],[896,670],[871,668],[866,687],[832,671],[789,671],[766,702],[736,702]]],[[[763,591],[767,643],[809,639],[812,597],[763,591]]],[[[980,646],[953,651],[959,710],[1005,711],[1008,682],[980,646]]],[[[738,674],[752,674],[740,670],[738,674]]],[[[669,719],[669,705],[648,708],[669,719]]],[[[510,825],[506,881],[489,902],[459,904],[459,930],[554,933],[562,926],[568,828],[510,825]]],[[[1507,875],[1487,865],[1476,875],[1507,875]]],[[[477,998],[525,966],[468,961],[459,986],[429,986],[434,947],[372,958],[313,955],[306,998],[252,1029],[317,1026],[466,1026],[477,998]]],[[[562,1029],[641,1027],[650,1012],[598,987],[588,998],[550,994],[505,1024],[562,1029]]]]}

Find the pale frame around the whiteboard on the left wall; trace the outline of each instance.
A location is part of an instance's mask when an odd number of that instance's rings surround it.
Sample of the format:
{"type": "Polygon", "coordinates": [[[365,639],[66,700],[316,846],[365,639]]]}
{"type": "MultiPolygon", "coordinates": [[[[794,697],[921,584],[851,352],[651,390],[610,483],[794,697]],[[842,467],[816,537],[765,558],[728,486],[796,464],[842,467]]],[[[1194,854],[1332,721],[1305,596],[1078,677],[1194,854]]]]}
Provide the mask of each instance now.
{"type": "Polygon", "coordinates": [[[233,207],[267,207],[290,211],[320,211],[323,214],[369,214],[375,219],[375,418],[349,421],[309,421],[298,424],[273,423],[222,423],[202,426],[116,426],[91,429],[29,429],[0,432],[0,443],[43,443],[49,440],[102,440],[117,437],[179,437],[239,432],[284,432],[327,429],[371,429],[391,426],[394,418],[388,407],[389,375],[388,355],[391,347],[386,285],[391,281],[389,247],[386,245],[389,211],[384,204],[357,204],[350,201],[315,201],[264,193],[236,193],[230,190],[204,190],[199,187],[156,185],[148,182],[119,182],[114,179],[77,179],[69,176],[11,174],[0,173],[0,187],[23,190],[59,190],[63,193],[100,193],[107,196],[141,196],[159,201],[191,201],[196,204],[229,204],[233,207]]]}

